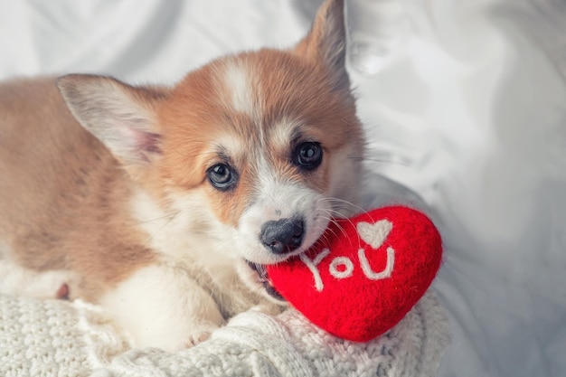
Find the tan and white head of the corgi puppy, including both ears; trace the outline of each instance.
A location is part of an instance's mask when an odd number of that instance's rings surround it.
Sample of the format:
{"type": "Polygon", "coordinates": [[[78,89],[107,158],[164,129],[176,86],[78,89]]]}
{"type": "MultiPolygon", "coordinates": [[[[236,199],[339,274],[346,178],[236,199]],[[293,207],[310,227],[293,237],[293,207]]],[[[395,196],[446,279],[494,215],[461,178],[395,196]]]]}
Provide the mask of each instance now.
{"type": "Polygon", "coordinates": [[[212,61],[172,89],[84,75],[58,85],[134,180],[192,219],[179,237],[198,228],[262,265],[355,210],[363,132],[344,48],[344,4],[328,0],[295,48],[212,61]]]}

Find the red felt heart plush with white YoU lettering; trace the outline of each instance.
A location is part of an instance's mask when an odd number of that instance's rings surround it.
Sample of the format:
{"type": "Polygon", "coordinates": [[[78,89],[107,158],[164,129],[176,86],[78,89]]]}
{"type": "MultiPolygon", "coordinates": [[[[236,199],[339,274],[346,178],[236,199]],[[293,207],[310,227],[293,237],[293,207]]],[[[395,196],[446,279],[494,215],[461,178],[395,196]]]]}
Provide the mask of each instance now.
{"type": "Polygon", "coordinates": [[[333,221],[310,250],[268,267],[271,284],[315,325],[367,342],[396,325],[439,270],[442,241],[421,212],[394,206],[333,221]]]}

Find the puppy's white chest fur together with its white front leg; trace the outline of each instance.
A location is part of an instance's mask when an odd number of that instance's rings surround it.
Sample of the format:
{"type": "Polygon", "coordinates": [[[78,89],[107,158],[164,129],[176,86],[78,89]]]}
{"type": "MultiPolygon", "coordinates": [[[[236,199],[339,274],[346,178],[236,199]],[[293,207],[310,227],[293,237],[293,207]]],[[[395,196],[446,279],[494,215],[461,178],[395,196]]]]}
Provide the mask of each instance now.
{"type": "Polygon", "coordinates": [[[220,250],[193,201],[177,198],[165,211],[141,189],[129,201],[157,262],[120,282],[100,304],[127,329],[134,345],[173,351],[198,344],[226,318],[261,301],[241,284],[237,260],[220,250]],[[194,208],[194,217],[179,206],[194,208]]]}

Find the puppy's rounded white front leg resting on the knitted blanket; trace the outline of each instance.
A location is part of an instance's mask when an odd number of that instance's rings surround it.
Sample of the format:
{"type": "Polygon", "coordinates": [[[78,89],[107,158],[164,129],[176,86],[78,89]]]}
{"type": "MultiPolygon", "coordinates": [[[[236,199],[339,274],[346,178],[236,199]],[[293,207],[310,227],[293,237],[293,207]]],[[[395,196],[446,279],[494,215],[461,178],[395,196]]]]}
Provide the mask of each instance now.
{"type": "Polygon", "coordinates": [[[206,340],[224,322],[210,294],[181,269],[137,270],[100,301],[133,346],[176,351],[206,340]]]}

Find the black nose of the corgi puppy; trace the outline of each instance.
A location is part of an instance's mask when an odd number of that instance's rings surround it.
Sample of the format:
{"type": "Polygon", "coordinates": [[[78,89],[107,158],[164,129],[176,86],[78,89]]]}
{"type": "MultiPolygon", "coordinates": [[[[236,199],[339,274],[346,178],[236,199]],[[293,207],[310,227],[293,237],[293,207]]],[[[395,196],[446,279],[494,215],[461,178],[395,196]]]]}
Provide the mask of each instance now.
{"type": "Polygon", "coordinates": [[[302,219],[280,219],[267,221],[261,227],[259,239],[274,254],[286,254],[296,250],[303,241],[302,219]]]}

